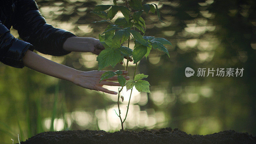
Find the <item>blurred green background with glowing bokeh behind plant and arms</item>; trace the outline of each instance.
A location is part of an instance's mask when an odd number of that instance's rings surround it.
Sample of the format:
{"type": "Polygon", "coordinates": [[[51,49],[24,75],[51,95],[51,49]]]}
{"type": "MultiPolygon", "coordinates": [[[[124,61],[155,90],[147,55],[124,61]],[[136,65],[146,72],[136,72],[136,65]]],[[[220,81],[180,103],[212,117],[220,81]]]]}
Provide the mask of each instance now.
{"type": "MultiPolygon", "coordinates": [[[[36,0],[47,23],[76,36],[95,37],[107,23],[91,14],[96,0],[36,0]]],[[[152,51],[138,65],[149,75],[151,94],[134,91],[126,130],[179,128],[191,134],[235,130],[256,135],[256,4],[244,1],[142,1],[157,4],[162,20],[149,13],[146,36],[164,37],[172,44],[152,51]],[[242,77],[191,77],[185,68],[244,68],[242,77]]],[[[123,5],[122,1],[117,2],[123,5]]],[[[118,12],[113,19],[123,17],[118,12]]],[[[16,30],[11,29],[15,37],[16,30]]],[[[126,44],[124,44],[126,45],[126,44]]],[[[130,45],[133,47],[133,44],[130,45]]],[[[39,53],[40,54],[40,53],[39,53]]],[[[97,70],[96,55],[72,52],[47,59],[82,71],[97,70]]],[[[105,70],[111,70],[106,68],[105,70]]],[[[114,69],[124,69],[117,65],[114,69]]],[[[132,76],[134,65],[129,66],[132,76]]],[[[207,72],[207,71],[206,71],[207,72]]],[[[215,73],[216,74],[216,73],[215,73]]],[[[117,91],[117,87],[108,87],[117,91]]],[[[129,100],[124,91],[121,112],[129,100]]],[[[26,140],[36,133],[61,130],[118,131],[117,95],[90,91],[28,68],[0,64],[0,143],[26,140]],[[54,121],[53,121],[54,120],[54,121]]]]}

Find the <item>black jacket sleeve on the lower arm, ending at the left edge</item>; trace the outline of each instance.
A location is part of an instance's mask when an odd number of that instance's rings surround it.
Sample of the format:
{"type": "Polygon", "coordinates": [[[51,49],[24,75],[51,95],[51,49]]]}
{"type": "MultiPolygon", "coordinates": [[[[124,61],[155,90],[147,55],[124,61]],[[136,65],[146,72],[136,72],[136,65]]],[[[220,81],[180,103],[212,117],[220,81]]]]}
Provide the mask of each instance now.
{"type": "Polygon", "coordinates": [[[0,21],[0,61],[15,68],[23,68],[22,57],[28,49],[33,50],[33,45],[14,38],[0,21]]]}

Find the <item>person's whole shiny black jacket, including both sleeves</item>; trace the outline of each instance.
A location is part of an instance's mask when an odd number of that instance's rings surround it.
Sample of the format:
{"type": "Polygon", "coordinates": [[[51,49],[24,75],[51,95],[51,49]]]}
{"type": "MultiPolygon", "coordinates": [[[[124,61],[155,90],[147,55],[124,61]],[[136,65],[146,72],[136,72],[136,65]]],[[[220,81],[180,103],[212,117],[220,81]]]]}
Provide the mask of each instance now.
{"type": "Polygon", "coordinates": [[[47,24],[34,0],[0,0],[0,61],[23,68],[22,57],[34,49],[54,56],[66,55],[63,43],[74,34],[47,24]],[[10,34],[18,30],[21,41],[10,34]]]}

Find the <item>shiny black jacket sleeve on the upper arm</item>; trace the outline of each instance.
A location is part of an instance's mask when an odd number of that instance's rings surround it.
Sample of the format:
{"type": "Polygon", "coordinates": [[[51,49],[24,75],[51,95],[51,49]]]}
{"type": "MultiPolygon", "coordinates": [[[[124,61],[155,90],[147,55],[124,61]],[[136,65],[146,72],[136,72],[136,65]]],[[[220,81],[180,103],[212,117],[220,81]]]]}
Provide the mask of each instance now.
{"type": "Polygon", "coordinates": [[[63,44],[75,35],[47,24],[34,0],[18,0],[14,14],[13,28],[24,41],[34,45],[36,51],[54,56],[70,53],[63,49],[63,44]]]}

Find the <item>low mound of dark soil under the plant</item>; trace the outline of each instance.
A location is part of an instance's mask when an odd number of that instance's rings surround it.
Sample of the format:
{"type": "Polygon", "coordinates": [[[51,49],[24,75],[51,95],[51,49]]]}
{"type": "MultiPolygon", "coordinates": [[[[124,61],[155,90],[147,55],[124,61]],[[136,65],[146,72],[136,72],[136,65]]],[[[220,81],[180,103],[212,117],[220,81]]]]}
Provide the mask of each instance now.
{"type": "Polygon", "coordinates": [[[82,144],[82,143],[256,143],[248,133],[223,131],[208,135],[191,135],[178,129],[135,131],[60,131],[43,132],[21,144],[82,144]]]}

